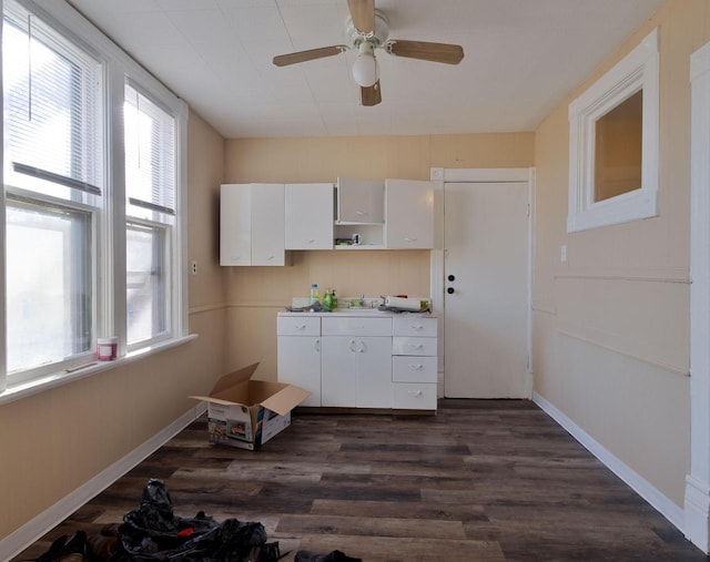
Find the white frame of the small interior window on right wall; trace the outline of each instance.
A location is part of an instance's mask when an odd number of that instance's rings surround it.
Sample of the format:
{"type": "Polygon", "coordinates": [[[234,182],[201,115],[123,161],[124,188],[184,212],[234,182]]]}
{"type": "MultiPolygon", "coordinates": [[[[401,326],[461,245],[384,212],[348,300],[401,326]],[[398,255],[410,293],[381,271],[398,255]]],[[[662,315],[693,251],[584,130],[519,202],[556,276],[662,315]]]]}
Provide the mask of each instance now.
{"type": "Polygon", "coordinates": [[[659,59],[656,28],[569,104],[568,233],[658,215],[659,59]],[[595,123],[641,90],[641,186],[596,202],[595,123]]]}

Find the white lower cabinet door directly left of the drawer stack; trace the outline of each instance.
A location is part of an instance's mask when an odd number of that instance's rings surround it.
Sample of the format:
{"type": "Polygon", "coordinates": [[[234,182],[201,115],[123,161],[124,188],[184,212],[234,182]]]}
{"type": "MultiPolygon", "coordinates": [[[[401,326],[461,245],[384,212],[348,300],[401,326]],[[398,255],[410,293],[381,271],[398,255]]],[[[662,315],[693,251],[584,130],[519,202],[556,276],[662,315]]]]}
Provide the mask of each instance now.
{"type": "Polygon", "coordinates": [[[356,340],[358,408],[392,408],[392,338],[356,340]]]}

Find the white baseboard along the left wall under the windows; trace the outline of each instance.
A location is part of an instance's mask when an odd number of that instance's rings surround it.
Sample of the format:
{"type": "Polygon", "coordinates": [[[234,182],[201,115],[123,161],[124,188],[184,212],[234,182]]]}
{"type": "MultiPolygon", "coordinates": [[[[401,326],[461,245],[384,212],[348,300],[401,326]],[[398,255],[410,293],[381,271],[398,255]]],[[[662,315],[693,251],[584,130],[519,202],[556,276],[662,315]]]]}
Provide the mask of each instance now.
{"type": "Polygon", "coordinates": [[[180,433],[180,431],[202,416],[206,410],[207,406],[205,402],[197,403],[197,406],[191,408],[166,428],[151,437],[143,445],[128,453],[122,459],[119,459],[91,480],[77,488],[69,495],[65,495],[54,503],[51,508],[47,509],[34,519],[24,523],[17,531],[2,539],[0,541],[0,560],[10,560],[13,556],[17,556],[40,537],[57,527],[58,523],[67,519],[89,500],[105,490],[129,470],[160,449],[163,445],[180,433]]]}

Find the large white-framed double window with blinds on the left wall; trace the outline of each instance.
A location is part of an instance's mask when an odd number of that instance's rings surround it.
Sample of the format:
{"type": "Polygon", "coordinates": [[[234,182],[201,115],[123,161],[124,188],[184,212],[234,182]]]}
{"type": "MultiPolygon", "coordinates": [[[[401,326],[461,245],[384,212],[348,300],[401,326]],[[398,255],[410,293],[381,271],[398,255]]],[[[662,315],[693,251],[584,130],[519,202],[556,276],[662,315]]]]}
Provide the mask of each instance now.
{"type": "Polygon", "coordinates": [[[67,3],[2,8],[0,391],[186,334],[184,104],[67,3]]]}

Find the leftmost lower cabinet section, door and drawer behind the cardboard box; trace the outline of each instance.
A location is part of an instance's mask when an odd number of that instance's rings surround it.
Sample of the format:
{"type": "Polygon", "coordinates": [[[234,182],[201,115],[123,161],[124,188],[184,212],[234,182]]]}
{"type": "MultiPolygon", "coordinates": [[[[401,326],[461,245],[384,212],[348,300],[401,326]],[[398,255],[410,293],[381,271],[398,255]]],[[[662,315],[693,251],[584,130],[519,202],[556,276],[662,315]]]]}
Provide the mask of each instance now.
{"type": "Polygon", "coordinates": [[[278,317],[278,380],[311,392],[301,406],[321,406],[321,318],[278,317]]]}

